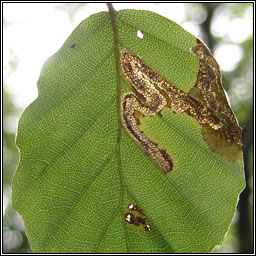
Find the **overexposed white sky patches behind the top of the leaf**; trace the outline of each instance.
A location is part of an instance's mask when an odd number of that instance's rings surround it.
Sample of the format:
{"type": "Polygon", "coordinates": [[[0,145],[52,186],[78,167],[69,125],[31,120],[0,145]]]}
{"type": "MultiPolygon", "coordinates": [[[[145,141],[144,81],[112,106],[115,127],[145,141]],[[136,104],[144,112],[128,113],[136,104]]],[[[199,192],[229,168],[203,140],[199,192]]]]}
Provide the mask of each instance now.
{"type": "MultiPolygon", "coordinates": [[[[37,97],[36,82],[46,59],[58,51],[83,19],[93,13],[107,11],[103,3],[5,3],[3,7],[4,84],[14,96],[15,104],[22,108],[37,97]],[[16,71],[11,73],[13,67],[16,71]]],[[[116,10],[133,8],[157,12],[183,25],[197,37],[202,36],[198,24],[207,15],[203,8],[191,8],[191,4],[183,3],[116,3],[114,7],[116,10]],[[185,19],[188,12],[192,20],[185,19]]],[[[235,43],[242,42],[251,33],[252,16],[248,13],[245,18],[232,20],[227,9],[218,10],[211,30],[215,36],[230,37],[235,43]]],[[[222,70],[235,68],[242,54],[239,48],[220,45],[216,49],[216,58],[222,70]]]]}

